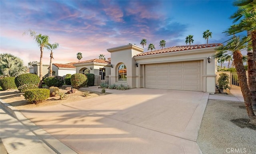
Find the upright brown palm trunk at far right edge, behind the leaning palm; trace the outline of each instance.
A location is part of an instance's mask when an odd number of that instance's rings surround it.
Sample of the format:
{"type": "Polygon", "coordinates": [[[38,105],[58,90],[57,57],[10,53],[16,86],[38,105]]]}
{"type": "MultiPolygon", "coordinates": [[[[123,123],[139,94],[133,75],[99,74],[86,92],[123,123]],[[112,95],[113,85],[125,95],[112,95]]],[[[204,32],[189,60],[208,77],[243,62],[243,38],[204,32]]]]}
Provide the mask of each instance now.
{"type": "Polygon", "coordinates": [[[252,108],[256,109],[256,31],[251,31],[252,53],[247,53],[248,84],[252,95],[252,108]]]}

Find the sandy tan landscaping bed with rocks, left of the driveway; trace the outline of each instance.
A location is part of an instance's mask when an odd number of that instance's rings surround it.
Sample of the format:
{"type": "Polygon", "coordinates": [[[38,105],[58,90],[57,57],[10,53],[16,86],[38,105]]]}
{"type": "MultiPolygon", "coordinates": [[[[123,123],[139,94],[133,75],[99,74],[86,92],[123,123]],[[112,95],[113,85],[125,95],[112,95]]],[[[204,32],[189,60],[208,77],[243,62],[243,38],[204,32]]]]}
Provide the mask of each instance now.
{"type": "MultiPolygon", "coordinates": [[[[60,92],[68,92],[65,90],[65,86],[60,88],[60,92]]],[[[24,98],[24,93],[19,92],[18,90],[5,90],[0,91],[0,99],[4,100],[6,103],[16,107],[16,109],[31,109],[35,107],[42,107],[42,106],[50,106],[50,105],[57,105],[57,104],[64,104],[64,103],[71,103],[74,101],[79,101],[83,99],[89,99],[92,97],[98,97],[102,95],[106,95],[108,93],[100,93],[100,92],[90,92],[89,96],[84,96],[83,90],[78,90],[75,94],[67,94],[63,100],[59,100],[60,96],[49,97],[46,101],[38,104],[32,104],[26,101],[24,98]]]]}

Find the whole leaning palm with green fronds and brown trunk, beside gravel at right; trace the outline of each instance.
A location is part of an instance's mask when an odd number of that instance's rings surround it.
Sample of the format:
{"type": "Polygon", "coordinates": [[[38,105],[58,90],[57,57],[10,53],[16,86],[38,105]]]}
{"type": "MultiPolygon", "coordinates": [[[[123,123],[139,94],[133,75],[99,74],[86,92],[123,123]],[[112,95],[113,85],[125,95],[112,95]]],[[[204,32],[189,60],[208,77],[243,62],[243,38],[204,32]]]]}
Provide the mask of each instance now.
{"type": "Polygon", "coordinates": [[[222,45],[216,50],[218,51],[215,58],[221,58],[222,56],[230,55],[234,59],[234,65],[238,75],[239,86],[241,87],[242,95],[244,97],[244,103],[246,107],[247,114],[250,118],[250,123],[256,124],[256,116],[252,109],[252,96],[250,95],[250,90],[247,84],[246,70],[242,61],[241,50],[247,47],[246,40],[240,39],[240,37],[234,37],[227,45],[222,45]],[[228,54],[230,52],[230,54],[228,54]]]}

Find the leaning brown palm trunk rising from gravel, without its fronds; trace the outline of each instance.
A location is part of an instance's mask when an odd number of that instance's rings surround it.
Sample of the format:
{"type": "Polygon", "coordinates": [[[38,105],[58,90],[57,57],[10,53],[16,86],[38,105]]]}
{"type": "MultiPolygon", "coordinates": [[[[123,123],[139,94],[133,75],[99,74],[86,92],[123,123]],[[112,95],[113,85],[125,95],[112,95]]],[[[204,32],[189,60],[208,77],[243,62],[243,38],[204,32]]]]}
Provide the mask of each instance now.
{"type": "Polygon", "coordinates": [[[241,87],[241,91],[244,97],[244,104],[246,107],[247,114],[254,124],[256,124],[256,116],[252,109],[252,96],[250,95],[250,90],[247,84],[246,71],[244,68],[244,64],[242,62],[243,55],[240,51],[234,51],[234,65],[236,67],[236,72],[239,80],[239,86],[241,87]]]}

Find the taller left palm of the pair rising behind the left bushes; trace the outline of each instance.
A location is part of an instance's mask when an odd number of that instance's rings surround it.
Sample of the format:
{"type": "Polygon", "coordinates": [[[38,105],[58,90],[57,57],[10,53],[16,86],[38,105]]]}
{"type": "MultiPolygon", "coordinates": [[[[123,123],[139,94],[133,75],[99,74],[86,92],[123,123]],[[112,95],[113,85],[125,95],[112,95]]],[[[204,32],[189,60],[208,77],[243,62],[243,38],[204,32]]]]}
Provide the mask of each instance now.
{"type": "Polygon", "coordinates": [[[35,31],[32,31],[31,29],[28,29],[28,31],[25,31],[23,34],[29,34],[30,37],[33,37],[33,39],[36,41],[36,44],[40,47],[40,67],[39,67],[39,77],[40,77],[40,82],[39,82],[39,88],[42,88],[42,80],[43,80],[43,52],[44,52],[44,47],[48,45],[49,37],[47,35],[42,35],[42,34],[37,34],[35,31]]]}

